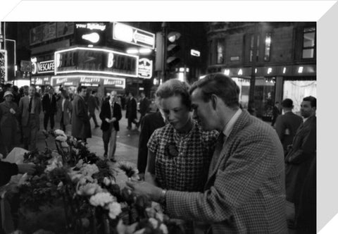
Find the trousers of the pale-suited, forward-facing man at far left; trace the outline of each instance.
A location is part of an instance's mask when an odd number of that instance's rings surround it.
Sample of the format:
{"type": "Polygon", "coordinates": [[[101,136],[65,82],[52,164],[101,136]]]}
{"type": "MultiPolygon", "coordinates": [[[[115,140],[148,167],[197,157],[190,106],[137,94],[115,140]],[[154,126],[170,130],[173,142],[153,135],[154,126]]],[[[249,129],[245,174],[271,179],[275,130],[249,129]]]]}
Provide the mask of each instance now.
{"type": "Polygon", "coordinates": [[[34,150],[37,148],[37,120],[34,114],[30,114],[28,118],[28,125],[23,126],[23,144],[27,150],[34,150]]]}

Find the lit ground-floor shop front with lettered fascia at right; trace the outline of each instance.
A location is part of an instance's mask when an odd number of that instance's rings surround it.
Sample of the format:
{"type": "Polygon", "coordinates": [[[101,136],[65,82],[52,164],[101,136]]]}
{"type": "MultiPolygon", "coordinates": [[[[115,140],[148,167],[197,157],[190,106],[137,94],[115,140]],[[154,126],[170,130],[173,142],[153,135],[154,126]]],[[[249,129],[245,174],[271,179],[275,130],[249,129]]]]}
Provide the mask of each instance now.
{"type": "Polygon", "coordinates": [[[272,118],[276,101],[292,99],[297,112],[303,97],[317,97],[315,70],[315,64],[222,69],[239,86],[239,102],[244,109],[249,104],[250,80],[255,79],[254,108],[256,115],[266,121],[272,118]]]}

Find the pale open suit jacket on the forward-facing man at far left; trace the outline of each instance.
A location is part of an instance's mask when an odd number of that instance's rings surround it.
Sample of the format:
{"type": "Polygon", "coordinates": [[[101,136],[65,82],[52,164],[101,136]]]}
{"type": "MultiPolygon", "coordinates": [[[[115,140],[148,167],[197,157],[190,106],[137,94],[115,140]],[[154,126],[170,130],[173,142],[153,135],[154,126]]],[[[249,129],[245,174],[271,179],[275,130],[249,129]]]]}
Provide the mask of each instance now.
{"type": "MultiPolygon", "coordinates": [[[[37,96],[33,98],[35,100],[35,110],[34,110],[35,119],[37,121],[37,129],[39,129],[39,125],[40,125],[39,115],[42,111],[42,101],[37,96]]],[[[21,125],[23,127],[28,125],[28,120],[30,117],[30,113],[28,111],[29,106],[30,106],[30,97],[28,96],[22,97],[19,101],[19,113],[21,116],[21,125]]]]}

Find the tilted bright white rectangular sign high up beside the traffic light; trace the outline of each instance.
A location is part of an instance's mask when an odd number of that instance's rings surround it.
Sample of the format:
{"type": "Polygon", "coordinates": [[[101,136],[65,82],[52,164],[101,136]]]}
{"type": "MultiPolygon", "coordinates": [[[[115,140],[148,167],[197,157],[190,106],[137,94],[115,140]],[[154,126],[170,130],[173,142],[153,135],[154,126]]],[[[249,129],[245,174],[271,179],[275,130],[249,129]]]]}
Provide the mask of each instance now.
{"type": "Polygon", "coordinates": [[[123,23],[113,23],[113,39],[150,49],[155,48],[154,33],[146,32],[123,23]]]}

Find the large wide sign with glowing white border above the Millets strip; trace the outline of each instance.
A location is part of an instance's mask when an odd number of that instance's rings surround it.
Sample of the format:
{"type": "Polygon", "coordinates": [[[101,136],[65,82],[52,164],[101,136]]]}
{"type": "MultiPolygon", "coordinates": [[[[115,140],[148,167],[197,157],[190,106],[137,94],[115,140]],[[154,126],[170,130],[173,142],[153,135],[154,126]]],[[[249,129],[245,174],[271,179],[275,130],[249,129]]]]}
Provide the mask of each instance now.
{"type": "Polygon", "coordinates": [[[56,51],[55,74],[95,73],[137,77],[139,56],[110,49],[76,47],[56,51]]]}

